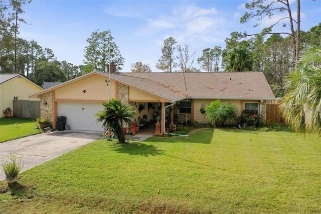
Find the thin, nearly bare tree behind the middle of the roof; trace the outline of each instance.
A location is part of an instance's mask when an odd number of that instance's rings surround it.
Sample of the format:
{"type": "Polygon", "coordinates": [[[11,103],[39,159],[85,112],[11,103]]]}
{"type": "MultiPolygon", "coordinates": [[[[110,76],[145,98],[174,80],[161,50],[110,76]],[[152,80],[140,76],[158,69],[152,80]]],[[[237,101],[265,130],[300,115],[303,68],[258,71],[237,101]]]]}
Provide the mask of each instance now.
{"type": "Polygon", "coordinates": [[[178,51],[177,59],[179,60],[178,65],[181,68],[182,72],[187,72],[187,70],[190,70],[193,65],[194,56],[195,56],[196,52],[194,51],[193,53],[190,53],[190,45],[189,44],[184,44],[183,47],[181,45],[178,45],[177,51],[178,51]]]}

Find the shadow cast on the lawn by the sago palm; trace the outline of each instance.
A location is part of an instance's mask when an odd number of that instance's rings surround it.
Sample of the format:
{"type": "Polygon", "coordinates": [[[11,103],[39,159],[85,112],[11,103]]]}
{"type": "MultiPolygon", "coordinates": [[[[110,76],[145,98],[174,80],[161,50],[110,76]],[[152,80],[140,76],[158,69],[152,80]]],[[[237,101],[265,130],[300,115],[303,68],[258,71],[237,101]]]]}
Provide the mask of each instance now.
{"type": "Polygon", "coordinates": [[[129,155],[141,155],[145,157],[148,157],[149,155],[164,155],[164,150],[157,149],[157,147],[155,147],[154,145],[146,145],[138,142],[133,142],[124,145],[112,145],[112,149],[115,152],[127,153],[129,155]]]}

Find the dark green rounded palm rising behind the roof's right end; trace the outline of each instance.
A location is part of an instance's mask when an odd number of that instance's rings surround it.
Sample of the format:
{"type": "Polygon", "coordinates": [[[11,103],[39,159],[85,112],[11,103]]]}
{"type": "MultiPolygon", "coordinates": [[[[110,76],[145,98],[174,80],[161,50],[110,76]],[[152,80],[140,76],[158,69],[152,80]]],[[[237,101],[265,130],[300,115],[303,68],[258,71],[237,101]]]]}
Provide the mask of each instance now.
{"type": "Polygon", "coordinates": [[[228,54],[225,71],[252,71],[253,61],[245,46],[237,46],[228,54]]]}

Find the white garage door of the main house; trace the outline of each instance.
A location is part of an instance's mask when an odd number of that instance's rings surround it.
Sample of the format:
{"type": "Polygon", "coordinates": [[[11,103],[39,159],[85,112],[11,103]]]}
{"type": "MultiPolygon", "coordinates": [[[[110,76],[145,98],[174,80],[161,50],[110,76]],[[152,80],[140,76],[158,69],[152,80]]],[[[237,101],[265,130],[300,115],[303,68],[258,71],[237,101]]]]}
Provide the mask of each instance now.
{"type": "Polygon", "coordinates": [[[58,116],[66,117],[66,125],[71,130],[104,131],[101,124],[96,124],[94,115],[102,111],[101,103],[58,102],[58,116]]]}

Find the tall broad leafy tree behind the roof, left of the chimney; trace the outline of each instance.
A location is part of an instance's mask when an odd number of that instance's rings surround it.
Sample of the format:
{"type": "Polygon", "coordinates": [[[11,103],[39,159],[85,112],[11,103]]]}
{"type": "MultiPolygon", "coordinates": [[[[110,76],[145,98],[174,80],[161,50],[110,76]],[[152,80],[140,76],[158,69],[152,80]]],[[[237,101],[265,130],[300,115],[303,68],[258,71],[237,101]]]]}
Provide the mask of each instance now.
{"type": "Polygon", "coordinates": [[[89,65],[93,70],[108,72],[107,65],[110,63],[117,65],[117,71],[120,71],[122,69],[120,66],[124,65],[124,58],[120,54],[119,47],[113,42],[111,32],[96,30],[90,36],[86,40],[89,45],[84,50],[85,65],[89,65]]]}

